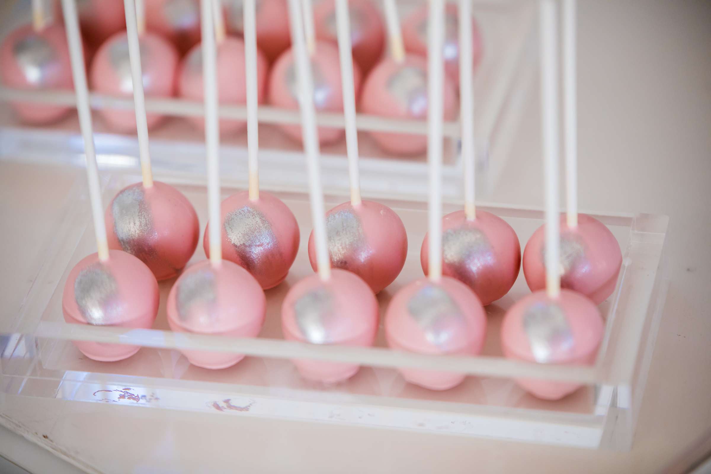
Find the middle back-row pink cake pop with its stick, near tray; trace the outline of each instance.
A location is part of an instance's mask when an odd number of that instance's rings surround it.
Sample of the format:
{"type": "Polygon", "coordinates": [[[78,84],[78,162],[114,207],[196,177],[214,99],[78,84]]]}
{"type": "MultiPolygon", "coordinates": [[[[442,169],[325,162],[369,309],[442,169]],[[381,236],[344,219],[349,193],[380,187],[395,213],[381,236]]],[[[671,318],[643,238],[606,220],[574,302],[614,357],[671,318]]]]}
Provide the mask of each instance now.
{"type": "MultiPolygon", "coordinates": [[[[328,256],[331,266],[353,271],[375,293],[395,281],[407,257],[407,233],[400,217],[385,205],[360,199],[358,178],[358,130],[355,128],[355,90],[351,32],[345,0],[336,0],[338,48],[343,80],[343,111],[346,119],[348,174],[351,200],[326,213],[328,256]]],[[[314,232],[309,237],[309,260],[316,270],[314,232]]]]}

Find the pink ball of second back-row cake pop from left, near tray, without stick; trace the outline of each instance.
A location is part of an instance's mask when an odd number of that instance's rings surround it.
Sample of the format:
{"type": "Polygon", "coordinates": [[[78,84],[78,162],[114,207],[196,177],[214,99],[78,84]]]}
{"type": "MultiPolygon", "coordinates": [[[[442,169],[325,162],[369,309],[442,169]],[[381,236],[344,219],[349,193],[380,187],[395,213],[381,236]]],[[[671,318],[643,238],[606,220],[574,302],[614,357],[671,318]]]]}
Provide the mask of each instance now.
{"type": "MultiPolygon", "coordinates": [[[[274,288],[289,273],[299,251],[299,225],[292,211],[277,196],[260,191],[250,200],[242,191],[223,200],[223,259],[247,269],[263,289],[274,288]]],[[[210,257],[210,223],[205,227],[203,248],[210,257]]]]}

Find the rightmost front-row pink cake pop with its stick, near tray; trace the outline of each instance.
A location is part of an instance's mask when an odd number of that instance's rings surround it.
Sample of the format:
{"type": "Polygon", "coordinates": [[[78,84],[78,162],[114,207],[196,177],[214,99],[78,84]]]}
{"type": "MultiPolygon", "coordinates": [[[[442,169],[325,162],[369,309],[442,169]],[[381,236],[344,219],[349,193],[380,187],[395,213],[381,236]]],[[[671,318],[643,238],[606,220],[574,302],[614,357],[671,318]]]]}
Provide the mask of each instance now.
{"type": "MultiPolygon", "coordinates": [[[[597,306],[580,293],[560,289],[558,266],[558,99],[557,18],[552,0],[540,2],[542,143],[545,168],[545,291],[512,306],[501,323],[506,357],[545,364],[592,365],[604,323],[597,306]]],[[[580,384],[518,379],[535,397],[557,400],[580,384]]]]}

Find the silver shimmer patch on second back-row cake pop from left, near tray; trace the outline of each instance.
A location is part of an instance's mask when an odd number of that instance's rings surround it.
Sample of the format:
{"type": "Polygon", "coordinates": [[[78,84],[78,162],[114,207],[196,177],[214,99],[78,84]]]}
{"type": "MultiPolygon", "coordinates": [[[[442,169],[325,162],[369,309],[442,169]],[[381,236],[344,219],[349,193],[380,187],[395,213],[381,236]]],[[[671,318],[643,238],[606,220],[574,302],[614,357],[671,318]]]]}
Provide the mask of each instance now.
{"type": "Polygon", "coordinates": [[[260,210],[242,206],[225,216],[225,232],[230,243],[240,256],[242,266],[254,271],[268,262],[265,259],[281,259],[277,237],[272,225],[260,210]],[[277,252],[274,252],[277,251],[277,252]]]}

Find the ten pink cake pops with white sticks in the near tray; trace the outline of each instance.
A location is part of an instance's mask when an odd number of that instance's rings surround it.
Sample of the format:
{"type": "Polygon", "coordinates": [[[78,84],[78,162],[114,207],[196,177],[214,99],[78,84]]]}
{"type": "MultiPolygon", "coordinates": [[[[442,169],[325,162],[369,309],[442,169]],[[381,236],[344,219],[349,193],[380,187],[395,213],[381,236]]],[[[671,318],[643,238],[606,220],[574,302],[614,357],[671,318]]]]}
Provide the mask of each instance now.
{"type": "MultiPolygon", "coordinates": [[[[73,0],[64,1],[65,6],[73,4],[73,0]]],[[[132,75],[134,85],[137,85],[134,99],[144,182],[122,190],[114,199],[107,210],[107,227],[104,227],[101,212],[97,212],[97,201],[100,210],[99,197],[92,197],[100,252],[82,260],[71,271],[65,286],[63,308],[66,320],[72,323],[149,328],[157,311],[157,283],[149,268],[127,252],[136,254],[149,265],[161,259],[165,262],[166,257],[169,257],[169,264],[161,263],[161,266],[154,266],[153,269],[159,278],[171,276],[179,271],[181,262],[184,265],[195,249],[198,227],[195,212],[187,200],[174,188],[151,180],[140,81],[140,50],[135,18],[132,18],[132,5],[129,5],[132,0],[126,0],[126,3],[132,75]],[[171,214],[173,210],[176,215],[171,214]],[[164,219],[164,216],[167,218],[164,219]],[[185,224],[177,228],[178,222],[185,224]],[[115,234],[115,238],[112,236],[107,239],[107,230],[109,236],[115,234]],[[127,252],[109,252],[109,242],[127,252]],[[176,250],[181,244],[186,244],[186,247],[176,250]],[[171,260],[174,256],[178,256],[178,259],[171,260]],[[130,270],[130,266],[134,266],[134,269],[130,270]],[[128,294],[132,295],[131,301],[124,301],[128,294]]],[[[245,6],[253,6],[251,3],[247,1],[245,6]]],[[[443,12],[437,3],[433,2],[433,14],[429,18],[433,31],[432,45],[435,47],[441,44],[438,39],[442,41],[440,23],[443,12]]],[[[339,46],[348,50],[346,4],[343,0],[338,0],[337,4],[339,46]]],[[[467,4],[466,0],[462,1],[461,8],[467,9],[467,4]]],[[[297,0],[290,0],[296,72],[299,75],[301,96],[309,97],[313,86],[297,7],[297,0]]],[[[204,0],[203,11],[209,8],[210,1],[204,0]]],[[[253,10],[251,15],[247,12],[245,20],[252,18],[253,13],[253,10]]],[[[205,31],[211,32],[211,18],[203,18],[203,23],[206,23],[205,31]]],[[[253,31],[252,28],[248,29],[253,31]]],[[[75,43],[73,66],[77,82],[77,77],[81,79],[83,74],[81,60],[77,59],[77,56],[80,57],[80,46],[78,34],[74,32],[75,38],[71,38],[72,28],[69,31],[70,43],[75,43]]],[[[464,36],[471,34],[469,28],[465,27],[463,31],[464,36]]],[[[545,50],[544,59],[550,56],[549,49],[545,50]]],[[[215,77],[215,41],[211,33],[205,37],[203,54],[210,207],[209,232],[206,230],[205,240],[208,242],[206,253],[210,261],[189,267],[176,281],[168,301],[169,324],[176,331],[256,336],[264,321],[265,300],[260,286],[268,288],[284,279],[298,247],[298,229],[288,208],[274,196],[260,193],[258,189],[255,95],[247,95],[248,130],[253,132],[248,135],[250,190],[228,198],[220,210],[217,166],[219,130],[216,112],[218,88],[215,77]],[[252,97],[251,104],[249,97],[252,97]],[[223,259],[223,243],[227,249],[224,257],[235,252],[232,257],[235,257],[237,264],[230,262],[229,257],[223,259]],[[236,301],[237,294],[239,301],[236,301]]],[[[248,90],[256,87],[255,58],[256,47],[252,38],[247,41],[248,90]]],[[[360,200],[354,87],[348,83],[352,75],[347,73],[351,61],[343,60],[345,55],[341,55],[341,58],[341,67],[346,71],[343,75],[343,89],[351,91],[344,100],[346,129],[349,132],[348,158],[352,165],[351,203],[338,206],[324,219],[314,105],[311,101],[302,101],[302,131],[309,164],[311,213],[314,220],[309,254],[318,274],[299,281],[289,290],[282,306],[282,326],[287,339],[316,344],[372,345],[378,326],[378,304],[373,291],[387,286],[400,272],[407,240],[402,222],[394,212],[383,205],[360,200]],[[390,248],[379,252],[388,239],[390,248]],[[340,269],[339,266],[350,271],[340,269]],[[356,273],[360,276],[356,276],[356,273]]],[[[473,180],[467,181],[465,212],[449,215],[444,222],[440,219],[442,115],[439,112],[442,112],[443,107],[441,53],[433,54],[429,61],[428,95],[432,103],[429,111],[430,221],[429,239],[422,250],[423,268],[429,277],[412,282],[395,295],[387,309],[385,330],[393,348],[429,354],[471,355],[481,351],[486,331],[482,303],[500,298],[513,285],[518,275],[520,247],[513,229],[506,222],[481,210],[475,212],[473,180]]],[[[466,79],[468,72],[461,73],[466,79]]],[[[546,83],[551,80],[550,77],[545,79],[546,83]]],[[[471,90],[468,89],[464,87],[466,92],[461,95],[463,101],[471,100],[471,90]]],[[[77,85],[77,97],[80,98],[77,102],[80,103],[82,133],[87,140],[87,171],[92,188],[96,169],[95,162],[92,163],[93,155],[88,150],[92,145],[85,85],[83,89],[80,84],[77,85]]],[[[554,100],[550,94],[544,98],[549,106],[554,100]]],[[[471,105],[463,103],[462,107],[471,109],[471,105]]],[[[545,107],[546,114],[550,114],[550,108],[545,107]]],[[[463,122],[469,123],[471,120],[463,122]]],[[[545,121],[546,124],[548,122],[545,121]]],[[[470,134],[463,134],[463,139],[466,142],[463,143],[463,149],[470,149],[473,146],[470,134]]],[[[550,140],[545,143],[550,148],[550,140]]],[[[549,150],[546,152],[549,195],[557,193],[549,176],[553,171],[557,172],[557,163],[552,159],[554,154],[549,150]]],[[[467,169],[473,172],[473,158],[465,158],[467,169]]],[[[573,291],[560,291],[557,195],[553,206],[552,200],[547,199],[546,230],[549,234],[553,230],[555,234],[552,238],[547,236],[545,252],[548,292],[533,293],[510,310],[504,321],[503,347],[510,357],[538,362],[589,363],[602,338],[602,318],[594,303],[585,296],[573,291]]],[[[577,217],[577,212],[572,210],[569,215],[577,217]]],[[[542,230],[539,230],[528,243],[524,254],[526,279],[534,290],[544,284],[541,235],[542,230]],[[527,271],[527,266],[530,266],[530,271],[527,271]]],[[[564,284],[587,291],[598,302],[602,301],[614,288],[621,264],[616,240],[604,225],[588,216],[581,216],[579,222],[570,225],[565,235],[575,245],[571,247],[574,248],[572,254],[564,252],[562,262],[567,276],[564,284]]],[[[125,345],[77,345],[82,352],[97,360],[118,360],[138,350],[137,347],[125,345]]],[[[242,358],[242,355],[235,354],[184,352],[193,364],[209,368],[228,367],[242,358]]],[[[358,365],[353,364],[309,360],[295,362],[301,375],[324,382],[347,379],[358,370],[358,365]]],[[[402,373],[410,382],[432,389],[447,389],[464,379],[464,375],[449,372],[403,369],[402,373]]],[[[532,393],[544,398],[560,398],[576,388],[551,382],[521,383],[532,393]]]]}

